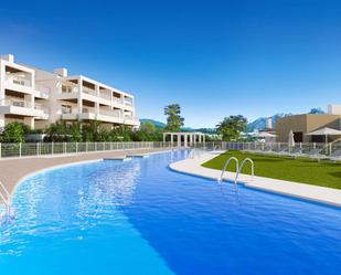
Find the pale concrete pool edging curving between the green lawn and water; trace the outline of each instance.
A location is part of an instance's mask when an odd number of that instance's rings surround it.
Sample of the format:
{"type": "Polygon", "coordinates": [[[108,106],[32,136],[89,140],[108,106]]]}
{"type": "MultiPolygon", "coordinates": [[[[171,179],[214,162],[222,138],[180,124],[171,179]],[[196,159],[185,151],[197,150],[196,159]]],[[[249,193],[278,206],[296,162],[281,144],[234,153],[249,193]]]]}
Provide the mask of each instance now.
{"type": "MultiPolygon", "coordinates": [[[[217,155],[219,154],[206,152],[195,158],[189,158],[173,162],[169,167],[178,172],[217,180],[217,178],[221,176],[221,170],[210,169],[201,166],[205,161],[215,158],[217,155]]],[[[257,169],[256,166],[255,169],[257,169]]],[[[234,180],[234,172],[225,172],[224,174],[224,180],[231,181],[234,180]]],[[[252,176],[242,173],[239,174],[238,182],[247,188],[264,190],[341,208],[341,190],[339,189],[256,176],[253,178],[252,176]]]]}

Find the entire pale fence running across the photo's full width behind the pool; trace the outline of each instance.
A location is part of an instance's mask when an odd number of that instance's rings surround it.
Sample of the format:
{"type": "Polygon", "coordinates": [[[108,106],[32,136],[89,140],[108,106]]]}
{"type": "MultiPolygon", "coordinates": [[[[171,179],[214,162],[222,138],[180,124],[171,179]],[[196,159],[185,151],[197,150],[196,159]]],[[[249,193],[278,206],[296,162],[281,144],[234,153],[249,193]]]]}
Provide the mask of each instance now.
{"type": "MultiPolygon", "coordinates": [[[[174,145],[175,148],[178,145],[174,145]]],[[[181,144],[183,147],[184,144],[181,144]]],[[[341,142],[333,144],[296,144],[289,148],[284,142],[196,142],[192,147],[203,148],[207,150],[253,150],[253,151],[288,151],[288,152],[308,152],[317,150],[319,154],[332,155],[340,150],[341,142]]],[[[47,155],[67,155],[84,154],[96,151],[115,151],[115,150],[132,150],[132,149],[153,149],[153,148],[171,148],[170,142],[162,141],[134,141],[134,142],[23,142],[23,144],[0,144],[0,158],[20,158],[47,155]]]]}

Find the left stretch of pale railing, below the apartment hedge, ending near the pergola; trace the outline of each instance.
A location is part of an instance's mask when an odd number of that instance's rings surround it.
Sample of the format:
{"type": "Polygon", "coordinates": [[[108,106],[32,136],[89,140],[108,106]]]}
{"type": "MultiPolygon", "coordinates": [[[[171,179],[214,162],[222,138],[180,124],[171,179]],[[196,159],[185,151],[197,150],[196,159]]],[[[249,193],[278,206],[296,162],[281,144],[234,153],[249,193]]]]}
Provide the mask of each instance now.
{"type": "Polygon", "coordinates": [[[0,158],[42,157],[54,155],[74,155],[98,151],[171,148],[170,142],[22,142],[0,144],[0,158]]]}

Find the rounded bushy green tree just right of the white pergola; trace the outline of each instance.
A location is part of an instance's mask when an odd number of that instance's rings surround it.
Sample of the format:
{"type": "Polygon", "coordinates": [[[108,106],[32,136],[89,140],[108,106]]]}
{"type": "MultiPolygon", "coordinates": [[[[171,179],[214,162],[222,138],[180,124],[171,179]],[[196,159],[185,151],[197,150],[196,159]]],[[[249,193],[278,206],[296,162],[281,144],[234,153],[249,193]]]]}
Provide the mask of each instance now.
{"type": "Polygon", "coordinates": [[[216,131],[223,136],[223,140],[232,141],[237,140],[241,131],[246,131],[246,127],[247,119],[244,116],[230,116],[216,125],[216,131]]]}

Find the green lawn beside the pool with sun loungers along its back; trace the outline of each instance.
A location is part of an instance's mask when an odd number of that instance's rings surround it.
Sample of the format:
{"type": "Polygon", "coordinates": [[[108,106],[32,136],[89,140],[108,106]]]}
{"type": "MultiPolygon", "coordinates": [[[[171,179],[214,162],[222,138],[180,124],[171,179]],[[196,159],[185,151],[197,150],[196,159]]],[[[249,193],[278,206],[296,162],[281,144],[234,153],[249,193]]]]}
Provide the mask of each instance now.
{"type": "MultiPolygon", "coordinates": [[[[303,182],[321,187],[341,189],[341,163],[333,163],[310,159],[290,159],[287,157],[262,156],[242,151],[228,151],[203,163],[203,167],[222,170],[230,157],[236,157],[241,161],[251,158],[255,163],[255,176],[273,179],[303,182]]],[[[231,162],[228,171],[235,171],[234,162],[231,162]]],[[[245,163],[242,173],[251,173],[251,165],[245,163]]]]}

